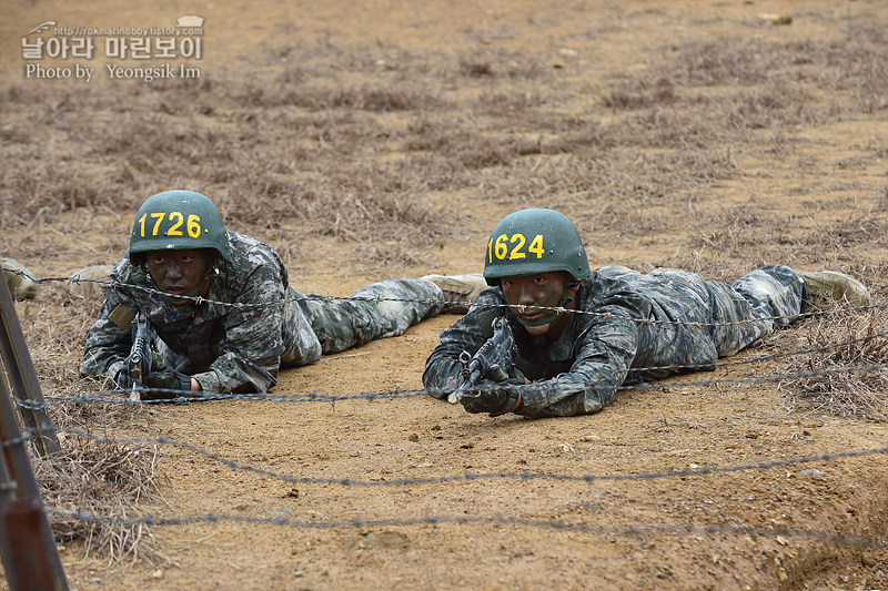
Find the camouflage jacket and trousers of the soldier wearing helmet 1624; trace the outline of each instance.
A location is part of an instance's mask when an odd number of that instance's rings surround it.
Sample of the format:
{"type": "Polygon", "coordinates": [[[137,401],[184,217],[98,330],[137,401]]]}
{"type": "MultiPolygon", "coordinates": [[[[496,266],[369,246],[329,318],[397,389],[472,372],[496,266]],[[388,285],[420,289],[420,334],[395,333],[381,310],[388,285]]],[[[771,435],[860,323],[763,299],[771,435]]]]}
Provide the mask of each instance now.
{"type": "Polygon", "coordinates": [[[595,412],[623,384],[659,379],[679,367],[713,369],[718,357],[734,355],[775,326],[791,323],[806,300],[803,279],[780,265],[755,271],[730,286],[679,269],[642,275],[603,267],[582,281],[575,296],[575,309],[595,314],[572,314],[553,342],[527,333],[503,307],[502,289],[493,287],[441,333],[423,383],[430,389],[457,387],[460,353],[476,351],[490,338],[493,318],[505,315],[517,345],[515,366],[523,374],[518,381],[531,380],[518,386],[523,407],[517,412],[595,412]]]}

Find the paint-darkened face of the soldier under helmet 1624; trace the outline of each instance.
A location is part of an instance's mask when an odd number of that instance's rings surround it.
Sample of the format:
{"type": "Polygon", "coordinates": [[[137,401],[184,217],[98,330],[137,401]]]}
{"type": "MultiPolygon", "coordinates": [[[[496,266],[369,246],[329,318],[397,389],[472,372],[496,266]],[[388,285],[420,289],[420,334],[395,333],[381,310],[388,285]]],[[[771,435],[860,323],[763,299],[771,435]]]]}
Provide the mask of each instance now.
{"type": "Polygon", "coordinates": [[[569,276],[563,271],[551,271],[534,275],[503,277],[500,286],[512,312],[532,335],[546,335],[557,338],[567,323],[567,314],[548,309],[526,308],[524,306],[573,308],[573,295],[578,284],[568,283],[569,276]]]}

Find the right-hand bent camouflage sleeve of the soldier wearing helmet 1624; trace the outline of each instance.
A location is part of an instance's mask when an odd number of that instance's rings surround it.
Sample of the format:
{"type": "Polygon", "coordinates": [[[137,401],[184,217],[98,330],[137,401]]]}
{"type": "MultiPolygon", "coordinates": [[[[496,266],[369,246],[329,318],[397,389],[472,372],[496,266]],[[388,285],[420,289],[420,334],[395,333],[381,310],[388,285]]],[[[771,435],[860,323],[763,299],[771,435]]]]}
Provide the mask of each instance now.
{"type": "Polygon", "coordinates": [[[523,401],[519,415],[566,417],[604,408],[626,379],[638,348],[636,319],[644,304],[639,302],[636,307],[633,299],[596,308],[607,316],[595,316],[583,333],[569,371],[518,387],[523,401]]]}

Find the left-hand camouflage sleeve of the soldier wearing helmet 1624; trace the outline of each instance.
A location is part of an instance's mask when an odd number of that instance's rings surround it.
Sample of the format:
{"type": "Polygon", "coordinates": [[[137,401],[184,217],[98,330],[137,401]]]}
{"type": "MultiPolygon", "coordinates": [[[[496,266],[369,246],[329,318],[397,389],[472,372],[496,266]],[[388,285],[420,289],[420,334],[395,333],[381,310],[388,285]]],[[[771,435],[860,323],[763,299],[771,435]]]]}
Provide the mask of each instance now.
{"type": "Polygon", "coordinates": [[[490,326],[498,313],[498,308],[491,306],[503,303],[494,293],[482,292],[475,300],[475,306],[465,316],[456,320],[450,328],[441,332],[441,343],[425,361],[425,371],[423,373],[423,385],[432,396],[445,398],[445,393],[460,386],[460,373],[462,371],[460,354],[467,350],[474,355],[484,345],[492,334],[492,330],[487,330],[490,334],[485,334],[484,326],[490,326]]]}

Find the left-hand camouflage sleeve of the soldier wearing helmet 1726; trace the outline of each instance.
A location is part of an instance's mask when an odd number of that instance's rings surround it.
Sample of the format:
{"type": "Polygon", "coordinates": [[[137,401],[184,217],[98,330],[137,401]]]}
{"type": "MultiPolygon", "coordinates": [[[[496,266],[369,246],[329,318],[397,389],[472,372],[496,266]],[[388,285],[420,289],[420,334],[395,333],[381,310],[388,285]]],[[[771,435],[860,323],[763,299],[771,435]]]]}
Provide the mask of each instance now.
{"type": "MultiPolygon", "coordinates": [[[[120,281],[118,268],[111,275],[113,282],[120,281]]],[[[85,353],[80,364],[82,376],[108,374],[113,377],[124,366],[132,348],[132,333],[121,328],[111,319],[112,313],[120,306],[131,312],[139,309],[129,294],[119,288],[108,288],[99,318],[87,332],[85,353]]]]}

